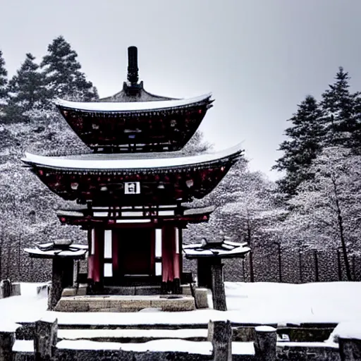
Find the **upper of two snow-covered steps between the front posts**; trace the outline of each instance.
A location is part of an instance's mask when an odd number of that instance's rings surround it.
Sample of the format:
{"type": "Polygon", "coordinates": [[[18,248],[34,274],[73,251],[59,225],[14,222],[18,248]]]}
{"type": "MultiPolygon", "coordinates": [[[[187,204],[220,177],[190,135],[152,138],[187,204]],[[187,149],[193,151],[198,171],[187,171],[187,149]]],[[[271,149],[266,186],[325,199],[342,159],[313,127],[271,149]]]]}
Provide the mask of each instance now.
{"type": "Polygon", "coordinates": [[[179,338],[207,341],[207,329],[59,329],[59,340],[144,343],[159,339],[179,338]]]}

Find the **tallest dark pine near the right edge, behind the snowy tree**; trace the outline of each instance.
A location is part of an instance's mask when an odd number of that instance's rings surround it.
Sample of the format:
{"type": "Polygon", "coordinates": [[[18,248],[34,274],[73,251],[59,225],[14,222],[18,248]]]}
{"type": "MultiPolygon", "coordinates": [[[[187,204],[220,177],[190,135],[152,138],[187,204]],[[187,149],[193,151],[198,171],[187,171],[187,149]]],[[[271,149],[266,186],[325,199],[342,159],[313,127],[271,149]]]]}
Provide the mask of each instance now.
{"type": "Polygon", "coordinates": [[[338,69],[335,82],[322,94],[324,111],[325,146],[355,148],[354,133],[357,130],[356,101],[358,94],[349,90],[350,77],[343,68],[338,69]]]}

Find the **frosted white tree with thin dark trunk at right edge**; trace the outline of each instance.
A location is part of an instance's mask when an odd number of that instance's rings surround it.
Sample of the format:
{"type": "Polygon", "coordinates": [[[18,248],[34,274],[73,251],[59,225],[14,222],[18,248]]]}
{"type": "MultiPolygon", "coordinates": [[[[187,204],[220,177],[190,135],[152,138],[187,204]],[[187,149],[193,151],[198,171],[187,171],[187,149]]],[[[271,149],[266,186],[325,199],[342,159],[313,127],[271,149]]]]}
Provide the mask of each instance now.
{"type": "Polygon", "coordinates": [[[348,256],[360,246],[361,157],[344,147],[325,148],[314,159],[312,181],[304,181],[289,202],[288,235],[314,248],[341,247],[348,280],[348,256]]]}

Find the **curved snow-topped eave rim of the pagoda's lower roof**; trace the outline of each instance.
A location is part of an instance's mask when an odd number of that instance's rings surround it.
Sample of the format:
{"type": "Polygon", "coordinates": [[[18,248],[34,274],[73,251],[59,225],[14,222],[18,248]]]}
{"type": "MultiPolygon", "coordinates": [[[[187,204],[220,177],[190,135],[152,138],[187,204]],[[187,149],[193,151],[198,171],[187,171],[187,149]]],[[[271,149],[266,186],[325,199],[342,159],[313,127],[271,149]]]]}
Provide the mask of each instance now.
{"type": "Polygon", "coordinates": [[[243,149],[240,144],[221,152],[200,154],[190,157],[163,159],[107,159],[105,154],[94,154],[94,157],[44,157],[25,153],[21,159],[25,164],[35,168],[42,167],[63,171],[140,171],[157,172],[164,170],[181,170],[188,167],[206,167],[217,164],[233,164],[241,157],[243,149]]]}

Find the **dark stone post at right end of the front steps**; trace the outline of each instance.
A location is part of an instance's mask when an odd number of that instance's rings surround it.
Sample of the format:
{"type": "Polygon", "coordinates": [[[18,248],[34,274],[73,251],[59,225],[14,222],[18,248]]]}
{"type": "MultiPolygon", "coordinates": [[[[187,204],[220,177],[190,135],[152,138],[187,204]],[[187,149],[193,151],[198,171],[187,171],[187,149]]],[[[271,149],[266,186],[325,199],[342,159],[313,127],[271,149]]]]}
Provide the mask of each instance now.
{"type": "Polygon", "coordinates": [[[232,360],[232,327],[231,322],[209,321],[208,341],[213,346],[214,361],[232,360]]]}

